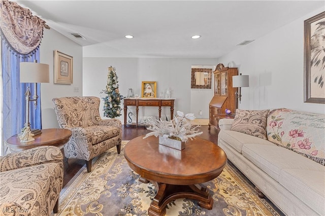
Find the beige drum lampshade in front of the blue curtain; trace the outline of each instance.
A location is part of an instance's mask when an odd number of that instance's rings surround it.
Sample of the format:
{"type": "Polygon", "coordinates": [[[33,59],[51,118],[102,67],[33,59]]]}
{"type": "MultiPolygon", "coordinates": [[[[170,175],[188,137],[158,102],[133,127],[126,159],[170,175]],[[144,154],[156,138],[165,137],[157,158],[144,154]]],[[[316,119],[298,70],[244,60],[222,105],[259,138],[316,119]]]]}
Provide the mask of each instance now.
{"type": "Polygon", "coordinates": [[[20,62],[21,83],[49,83],[50,66],[35,62],[20,62]]]}

